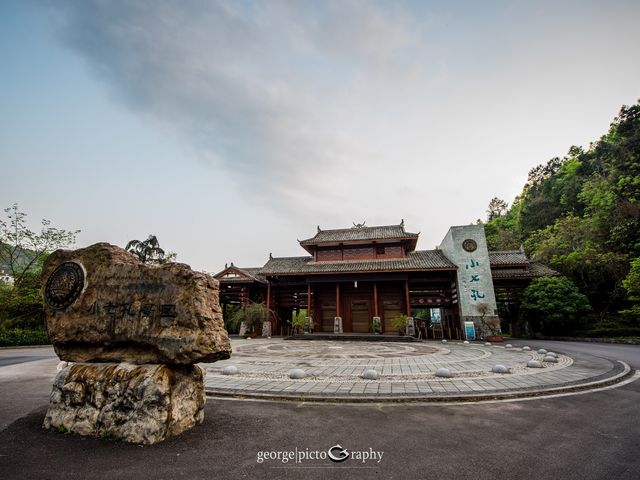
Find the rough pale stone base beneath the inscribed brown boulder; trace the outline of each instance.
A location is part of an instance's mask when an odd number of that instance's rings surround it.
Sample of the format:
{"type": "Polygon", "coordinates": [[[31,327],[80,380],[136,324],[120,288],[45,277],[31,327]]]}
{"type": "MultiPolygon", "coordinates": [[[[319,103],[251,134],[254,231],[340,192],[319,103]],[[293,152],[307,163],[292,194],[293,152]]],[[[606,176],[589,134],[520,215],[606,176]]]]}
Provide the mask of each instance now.
{"type": "Polygon", "coordinates": [[[53,384],[44,428],[153,444],[204,420],[197,365],[76,363],[53,384]]]}

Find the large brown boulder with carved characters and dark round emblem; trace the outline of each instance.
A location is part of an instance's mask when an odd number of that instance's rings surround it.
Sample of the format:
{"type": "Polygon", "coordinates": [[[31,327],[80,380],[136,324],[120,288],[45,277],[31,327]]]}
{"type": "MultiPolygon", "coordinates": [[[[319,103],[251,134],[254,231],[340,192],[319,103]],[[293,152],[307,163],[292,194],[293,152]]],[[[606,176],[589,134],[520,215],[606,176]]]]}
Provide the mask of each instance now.
{"type": "Polygon", "coordinates": [[[191,365],[229,358],[219,283],[97,243],[57,250],[42,270],[49,339],[62,360],[191,365]]]}

